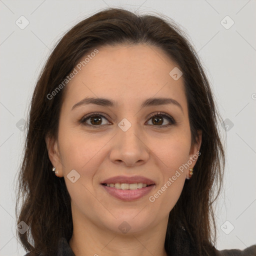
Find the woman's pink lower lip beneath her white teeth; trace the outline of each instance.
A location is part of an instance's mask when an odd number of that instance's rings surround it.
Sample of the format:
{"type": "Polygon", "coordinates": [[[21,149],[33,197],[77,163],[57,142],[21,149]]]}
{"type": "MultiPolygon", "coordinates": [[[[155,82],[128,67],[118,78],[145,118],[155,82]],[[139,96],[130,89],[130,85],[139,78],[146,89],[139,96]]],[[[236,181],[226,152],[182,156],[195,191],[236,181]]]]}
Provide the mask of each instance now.
{"type": "Polygon", "coordinates": [[[114,196],[117,199],[121,199],[123,201],[132,201],[139,199],[149,193],[150,190],[153,189],[155,185],[145,186],[142,188],[137,189],[118,189],[111,186],[105,186],[102,185],[105,188],[105,190],[112,196],[114,196]]]}

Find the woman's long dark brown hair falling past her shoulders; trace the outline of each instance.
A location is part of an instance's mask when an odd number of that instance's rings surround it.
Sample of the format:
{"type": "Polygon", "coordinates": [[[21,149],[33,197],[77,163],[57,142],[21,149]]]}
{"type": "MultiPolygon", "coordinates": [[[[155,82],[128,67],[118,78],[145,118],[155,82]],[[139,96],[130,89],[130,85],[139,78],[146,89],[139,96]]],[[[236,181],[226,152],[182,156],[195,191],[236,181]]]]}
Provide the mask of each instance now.
{"type": "Polygon", "coordinates": [[[165,250],[168,255],[214,252],[212,203],[221,188],[224,151],[217,125],[221,118],[199,58],[171,19],[108,8],[80,21],[59,40],[34,89],[16,203],[17,223],[24,221],[29,226],[24,234],[17,234],[31,255],[55,255],[58,239],[63,236],[68,241],[73,228],[70,196],[64,178],[51,171],[45,144],[46,135],[57,135],[65,87],[50,99],[47,95],[91,49],[122,43],[155,45],[177,63],[183,73],[193,143],[197,140],[196,131],[202,130],[201,155],[193,177],[185,181],[169,213],[165,250]]]}

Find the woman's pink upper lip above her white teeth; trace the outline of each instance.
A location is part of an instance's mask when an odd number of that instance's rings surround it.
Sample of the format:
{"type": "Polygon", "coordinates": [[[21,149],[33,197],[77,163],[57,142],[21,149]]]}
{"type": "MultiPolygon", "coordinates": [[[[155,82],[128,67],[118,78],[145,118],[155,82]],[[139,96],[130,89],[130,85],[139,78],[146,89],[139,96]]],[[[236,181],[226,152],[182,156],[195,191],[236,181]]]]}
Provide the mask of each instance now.
{"type": "Polygon", "coordinates": [[[133,183],[144,183],[147,185],[151,185],[154,184],[154,181],[143,177],[143,176],[114,176],[114,177],[110,177],[107,178],[105,180],[103,180],[102,182],[100,182],[101,184],[110,184],[110,183],[129,183],[129,184],[133,184],[133,183]]]}

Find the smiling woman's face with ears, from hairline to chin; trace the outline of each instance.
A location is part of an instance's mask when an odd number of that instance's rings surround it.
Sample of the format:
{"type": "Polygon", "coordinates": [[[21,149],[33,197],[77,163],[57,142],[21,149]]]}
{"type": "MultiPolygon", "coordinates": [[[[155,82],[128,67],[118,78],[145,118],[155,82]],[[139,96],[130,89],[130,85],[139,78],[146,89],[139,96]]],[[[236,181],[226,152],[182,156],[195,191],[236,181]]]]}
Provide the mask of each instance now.
{"type": "Polygon", "coordinates": [[[83,65],[65,87],[58,136],[46,140],[73,218],[123,233],[166,228],[200,147],[191,145],[182,76],[142,44],[101,47],[83,65]]]}

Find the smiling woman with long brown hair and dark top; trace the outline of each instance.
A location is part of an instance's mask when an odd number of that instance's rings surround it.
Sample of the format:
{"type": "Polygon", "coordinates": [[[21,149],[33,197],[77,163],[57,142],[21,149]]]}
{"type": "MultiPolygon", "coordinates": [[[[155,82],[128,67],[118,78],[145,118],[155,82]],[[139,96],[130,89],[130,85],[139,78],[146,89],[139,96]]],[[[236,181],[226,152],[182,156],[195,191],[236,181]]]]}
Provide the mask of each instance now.
{"type": "Polygon", "coordinates": [[[174,24],[116,8],[76,24],[32,97],[17,220],[27,255],[245,255],[214,247],[217,118],[174,24]]]}

